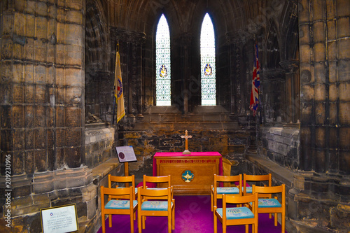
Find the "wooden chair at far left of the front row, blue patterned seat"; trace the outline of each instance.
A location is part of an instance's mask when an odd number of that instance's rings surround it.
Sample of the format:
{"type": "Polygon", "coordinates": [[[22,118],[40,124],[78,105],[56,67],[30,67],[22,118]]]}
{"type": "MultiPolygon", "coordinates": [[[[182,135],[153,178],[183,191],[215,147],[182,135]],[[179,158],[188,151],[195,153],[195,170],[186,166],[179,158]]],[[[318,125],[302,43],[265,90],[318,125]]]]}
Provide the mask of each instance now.
{"type": "Polygon", "coordinates": [[[102,232],[106,232],[105,215],[109,215],[109,227],[112,227],[112,215],[130,215],[131,232],[134,232],[134,216],[138,203],[134,200],[134,188],[104,188],[101,186],[101,213],[102,213],[102,232]],[[104,195],[113,196],[109,202],[104,204],[104,195]],[[124,199],[128,197],[129,199],[124,199]],[[120,199],[123,198],[123,199],[120,199]]]}

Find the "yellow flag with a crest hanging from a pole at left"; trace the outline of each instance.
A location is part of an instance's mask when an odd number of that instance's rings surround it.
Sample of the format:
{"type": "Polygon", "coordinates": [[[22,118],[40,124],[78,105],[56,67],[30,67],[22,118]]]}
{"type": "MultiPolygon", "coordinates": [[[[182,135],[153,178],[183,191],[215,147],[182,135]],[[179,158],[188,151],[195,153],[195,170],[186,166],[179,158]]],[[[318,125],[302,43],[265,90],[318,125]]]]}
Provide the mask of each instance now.
{"type": "Polygon", "coordinates": [[[117,102],[117,123],[120,119],[125,116],[124,108],[124,94],[123,94],[123,82],[122,82],[122,71],[120,70],[120,56],[119,51],[116,55],[116,72],[114,79],[114,96],[117,102]]]}

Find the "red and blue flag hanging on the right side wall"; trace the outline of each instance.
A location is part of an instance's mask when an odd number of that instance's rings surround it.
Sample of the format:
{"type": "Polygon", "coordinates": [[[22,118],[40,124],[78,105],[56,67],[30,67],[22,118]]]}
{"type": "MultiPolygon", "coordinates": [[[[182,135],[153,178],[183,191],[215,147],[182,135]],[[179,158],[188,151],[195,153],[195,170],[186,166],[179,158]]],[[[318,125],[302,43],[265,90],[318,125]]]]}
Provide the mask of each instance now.
{"type": "Polygon", "coordinates": [[[253,111],[255,116],[259,106],[259,90],[260,90],[260,65],[258,58],[258,44],[254,45],[254,66],[253,66],[253,80],[251,83],[251,104],[249,108],[253,111]]]}

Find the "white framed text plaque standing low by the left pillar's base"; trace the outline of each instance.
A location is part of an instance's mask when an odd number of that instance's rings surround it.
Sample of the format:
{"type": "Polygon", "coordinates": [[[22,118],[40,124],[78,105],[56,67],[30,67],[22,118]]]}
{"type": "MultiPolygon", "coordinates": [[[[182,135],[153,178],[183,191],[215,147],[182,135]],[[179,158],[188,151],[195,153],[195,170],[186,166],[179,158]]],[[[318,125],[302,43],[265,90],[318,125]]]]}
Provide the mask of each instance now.
{"type": "Polygon", "coordinates": [[[76,204],[41,209],[43,233],[78,232],[76,204]]]}

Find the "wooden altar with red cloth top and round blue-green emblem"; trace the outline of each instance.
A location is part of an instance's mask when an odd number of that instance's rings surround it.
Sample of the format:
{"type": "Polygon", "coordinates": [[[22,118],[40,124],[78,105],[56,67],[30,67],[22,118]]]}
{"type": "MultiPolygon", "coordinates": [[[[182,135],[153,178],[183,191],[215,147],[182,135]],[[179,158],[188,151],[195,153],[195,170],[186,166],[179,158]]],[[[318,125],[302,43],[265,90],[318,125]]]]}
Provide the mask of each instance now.
{"type": "Polygon", "coordinates": [[[209,195],[214,174],[223,174],[223,158],[218,152],[155,153],[153,176],[172,176],[175,195],[209,195]]]}

